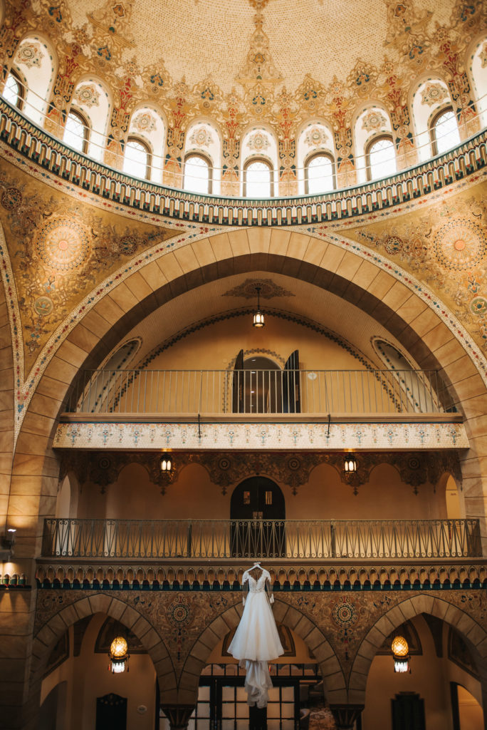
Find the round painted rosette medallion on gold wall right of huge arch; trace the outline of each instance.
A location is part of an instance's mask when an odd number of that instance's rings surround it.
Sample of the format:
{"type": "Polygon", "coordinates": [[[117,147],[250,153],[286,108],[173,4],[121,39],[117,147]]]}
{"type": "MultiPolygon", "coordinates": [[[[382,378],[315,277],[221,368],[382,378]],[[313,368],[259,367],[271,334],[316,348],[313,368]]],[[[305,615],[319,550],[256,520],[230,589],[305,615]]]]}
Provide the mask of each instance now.
{"type": "Polygon", "coordinates": [[[486,238],[473,220],[451,220],[436,234],[438,261],[448,269],[470,269],[479,264],[486,253],[486,238]]]}

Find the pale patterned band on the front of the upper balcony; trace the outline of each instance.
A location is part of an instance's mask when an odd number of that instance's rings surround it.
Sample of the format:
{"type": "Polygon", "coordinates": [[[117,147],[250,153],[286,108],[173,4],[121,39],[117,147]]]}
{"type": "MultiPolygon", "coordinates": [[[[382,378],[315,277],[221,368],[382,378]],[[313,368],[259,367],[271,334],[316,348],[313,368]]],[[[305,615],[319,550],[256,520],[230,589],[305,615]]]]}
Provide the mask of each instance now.
{"type": "MultiPolygon", "coordinates": [[[[303,421],[305,417],[303,417],[303,421]]],[[[324,419],[326,420],[326,419],[324,419]]],[[[467,449],[463,423],[59,423],[63,449],[467,449]]]]}

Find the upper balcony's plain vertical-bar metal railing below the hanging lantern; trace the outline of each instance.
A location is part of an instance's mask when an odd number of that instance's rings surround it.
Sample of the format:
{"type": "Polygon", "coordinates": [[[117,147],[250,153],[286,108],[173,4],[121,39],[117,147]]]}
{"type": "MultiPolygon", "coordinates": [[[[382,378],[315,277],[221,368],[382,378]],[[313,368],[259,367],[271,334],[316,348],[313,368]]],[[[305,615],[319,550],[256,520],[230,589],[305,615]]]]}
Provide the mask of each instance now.
{"type": "Polygon", "coordinates": [[[87,370],[69,412],[418,414],[454,412],[436,370],[87,370]]]}

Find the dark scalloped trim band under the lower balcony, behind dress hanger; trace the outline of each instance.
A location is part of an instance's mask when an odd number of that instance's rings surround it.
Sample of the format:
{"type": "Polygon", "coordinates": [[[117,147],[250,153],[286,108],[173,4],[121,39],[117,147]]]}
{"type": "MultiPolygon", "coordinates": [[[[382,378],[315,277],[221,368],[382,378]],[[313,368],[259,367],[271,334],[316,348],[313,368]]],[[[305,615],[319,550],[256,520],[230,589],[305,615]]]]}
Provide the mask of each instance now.
{"type": "MultiPolygon", "coordinates": [[[[460,558],[469,560],[469,558],[460,558]]],[[[447,558],[448,560],[448,558],[447,558]]],[[[457,558],[458,560],[458,558],[457,558]]],[[[274,579],[273,592],[289,591],[448,591],[453,589],[487,588],[487,577],[481,563],[459,563],[432,560],[430,563],[412,565],[407,561],[386,560],[380,564],[359,562],[351,565],[336,561],[335,564],[293,564],[266,560],[274,579]]],[[[87,589],[91,591],[241,591],[239,577],[247,566],[240,564],[212,565],[191,561],[190,564],[174,563],[164,568],[149,561],[123,564],[119,561],[87,564],[74,559],[71,563],[47,563],[38,561],[36,567],[37,588],[65,590],[87,589]],[[97,579],[99,572],[104,577],[97,579]],[[120,572],[124,576],[121,578],[120,572]],[[191,572],[203,574],[201,580],[188,580],[191,572]],[[144,578],[137,580],[136,575],[144,578]],[[119,575],[114,580],[113,575],[119,575]],[[176,575],[184,575],[176,580],[176,575]],[[204,577],[203,577],[204,576],[204,577]],[[219,577],[217,577],[219,576],[219,577]]]]}

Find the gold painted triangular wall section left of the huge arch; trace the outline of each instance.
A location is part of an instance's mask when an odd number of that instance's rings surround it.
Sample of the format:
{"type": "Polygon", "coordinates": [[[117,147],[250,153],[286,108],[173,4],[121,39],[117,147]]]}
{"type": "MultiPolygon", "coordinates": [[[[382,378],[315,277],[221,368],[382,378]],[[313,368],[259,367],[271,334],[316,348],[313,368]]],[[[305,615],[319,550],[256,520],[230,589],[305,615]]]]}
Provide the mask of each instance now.
{"type": "Polygon", "coordinates": [[[46,193],[42,183],[4,167],[0,222],[17,286],[25,376],[75,304],[122,261],[174,235],[46,193]]]}

